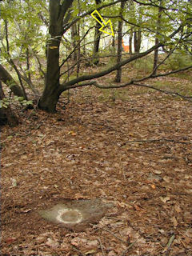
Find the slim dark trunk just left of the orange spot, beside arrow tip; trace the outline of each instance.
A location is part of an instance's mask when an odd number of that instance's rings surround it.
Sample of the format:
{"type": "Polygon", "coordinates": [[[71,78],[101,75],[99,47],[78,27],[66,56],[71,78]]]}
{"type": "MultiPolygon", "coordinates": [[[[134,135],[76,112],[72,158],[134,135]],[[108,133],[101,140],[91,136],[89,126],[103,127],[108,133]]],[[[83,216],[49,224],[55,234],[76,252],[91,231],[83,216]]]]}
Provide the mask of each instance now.
{"type": "MultiPolygon", "coordinates": [[[[122,16],[122,10],[125,7],[126,2],[122,0],[121,2],[121,11],[120,16],[122,16]]],[[[118,22],[118,60],[117,64],[122,61],[122,20],[118,22]]],[[[114,79],[114,82],[121,82],[122,80],[122,67],[120,67],[117,70],[116,78],[114,79]]]]}

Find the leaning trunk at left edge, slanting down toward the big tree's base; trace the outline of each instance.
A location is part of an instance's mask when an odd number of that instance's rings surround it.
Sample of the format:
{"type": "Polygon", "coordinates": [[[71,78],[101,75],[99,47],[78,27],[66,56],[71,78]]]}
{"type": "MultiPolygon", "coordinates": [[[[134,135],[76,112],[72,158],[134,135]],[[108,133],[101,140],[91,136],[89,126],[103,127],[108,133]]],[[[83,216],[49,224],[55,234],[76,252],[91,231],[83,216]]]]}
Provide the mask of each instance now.
{"type": "Polygon", "coordinates": [[[18,97],[23,97],[26,99],[25,94],[22,91],[22,88],[18,86],[17,82],[14,81],[14,78],[11,77],[10,73],[7,72],[1,64],[0,64],[0,80],[10,87],[10,90],[14,93],[14,95],[18,97]]]}

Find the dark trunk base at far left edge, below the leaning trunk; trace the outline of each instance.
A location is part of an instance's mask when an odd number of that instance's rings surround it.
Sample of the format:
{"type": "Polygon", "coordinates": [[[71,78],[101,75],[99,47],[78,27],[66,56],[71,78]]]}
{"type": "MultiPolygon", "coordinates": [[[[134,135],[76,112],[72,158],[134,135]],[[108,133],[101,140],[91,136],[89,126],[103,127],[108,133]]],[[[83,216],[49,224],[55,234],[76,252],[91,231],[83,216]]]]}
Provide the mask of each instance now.
{"type": "MultiPolygon", "coordinates": [[[[2,82],[0,82],[0,100],[2,100],[3,98],[6,97],[2,90],[2,82]]],[[[18,126],[18,119],[13,114],[10,105],[7,106],[7,108],[0,108],[0,125],[3,126],[6,123],[8,123],[10,127],[18,126]]]]}

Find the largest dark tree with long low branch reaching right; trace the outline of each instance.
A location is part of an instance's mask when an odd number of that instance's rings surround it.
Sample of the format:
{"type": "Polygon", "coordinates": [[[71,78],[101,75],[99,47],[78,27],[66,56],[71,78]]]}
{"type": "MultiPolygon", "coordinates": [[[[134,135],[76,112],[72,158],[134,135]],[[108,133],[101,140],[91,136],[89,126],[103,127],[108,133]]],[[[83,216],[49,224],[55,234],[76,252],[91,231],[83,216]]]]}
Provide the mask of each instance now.
{"type": "MultiPolygon", "coordinates": [[[[56,104],[58,102],[58,98],[60,94],[62,94],[63,91],[69,90],[72,88],[80,87],[80,86],[88,86],[90,85],[89,82],[85,83],[85,81],[93,80],[94,78],[100,78],[106,74],[110,74],[114,70],[118,70],[120,67],[125,66],[126,64],[133,62],[134,60],[138,58],[142,58],[151,52],[153,52],[156,48],[164,46],[166,42],[159,42],[157,46],[151,47],[149,50],[146,50],[145,52],[142,52],[140,54],[134,54],[130,58],[126,58],[125,60],[117,63],[114,66],[111,66],[110,68],[106,70],[102,70],[101,72],[98,72],[96,74],[83,74],[82,76],[79,76],[78,78],[71,79],[68,82],[59,83],[59,66],[58,66],[58,59],[59,59],[59,50],[58,46],[60,45],[60,40],[56,40],[56,38],[61,38],[62,34],[66,31],[67,26],[63,26],[61,20],[63,21],[63,17],[66,14],[66,11],[70,8],[70,5],[73,3],[73,0],[63,0],[62,5],[60,6],[60,1],[58,0],[50,0],[50,7],[53,7],[53,10],[50,11],[50,35],[51,35],[51,42],[48,49],[48,60],[47,60],[47,70],[50,71],[47,72],[46,75],[46,85],[45,90],[43,91],[42,97],[40,98],[40,101],[38,103],[39,108],[42,108],[42,110],[46,110],[47,112],[55,112],[56,110],[56,104]],[[57,5],[59,7],[57,7],[57,5]],[[62,8],[64,6],[64,8],[62,8]],[[61,7],[61,9],[60,9],[61,7]],[[56,10],[55,10],[56,9],[56,10]],[[55,16],[56,17],[52,17],[55,16]],[[54,28],[54,30],[51,30],[54,28]],[[59,42],[58,42],[59,41],[59,42]],[[58,45],[58,46],[57,46],[58,45]],[[51,53],[52,51],[52,53],[51,53]],[[58,66],[58,69],[54,68],[54,62],[56,61],[56,66],[58,66]],[[51,65],[52,63],[52,65],[51,65]],[[57,73],[57,72],[58,73],[57,73]],[[55,75],[56,74],[56,75],[55,75]],[[50,78],[50,79],[48,79],[50,78]],[[84,84],[78,84],[79,82],[84,82],[84,84]]],[[[52,9],[52,8],[50,8],[52,9]]],[[[78,19],[74,19],[74,22],[78,21],[78,19]]],[[[71,22],[71,25],[72,26],[71,22]]],[[[74,23],[73,23],[74,24],[74,23]]],[[[173,38],[175,34],[178,34],[178,32],[181,30],[184,22],[182,25],[180,25],[176,30],[174,30],[173,33],[171,33],[168,37],[173,38]]],[[[91,84],[93,84],[92,82],[91,84]]]]}

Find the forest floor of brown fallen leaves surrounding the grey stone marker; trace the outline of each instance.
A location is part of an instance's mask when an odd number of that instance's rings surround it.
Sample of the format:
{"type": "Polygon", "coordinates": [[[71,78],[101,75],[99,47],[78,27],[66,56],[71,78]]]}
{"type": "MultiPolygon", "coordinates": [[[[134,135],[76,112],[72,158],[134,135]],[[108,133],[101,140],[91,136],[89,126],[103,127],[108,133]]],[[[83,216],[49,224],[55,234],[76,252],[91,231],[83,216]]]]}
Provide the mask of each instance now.
{"type": "MultiPolygon", "coordinates": [[[[191,93],[185,74],[155,83],[191,93]]],[[[135,87],[70,94],[57,114],[27,110],[2,128],[2,255],[191,256],[191,102],[135,87]],[[114,207],[81,231],[38,215],[94,198],[114,207]]]]}

